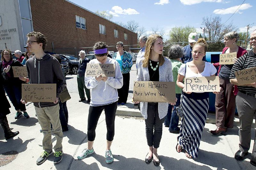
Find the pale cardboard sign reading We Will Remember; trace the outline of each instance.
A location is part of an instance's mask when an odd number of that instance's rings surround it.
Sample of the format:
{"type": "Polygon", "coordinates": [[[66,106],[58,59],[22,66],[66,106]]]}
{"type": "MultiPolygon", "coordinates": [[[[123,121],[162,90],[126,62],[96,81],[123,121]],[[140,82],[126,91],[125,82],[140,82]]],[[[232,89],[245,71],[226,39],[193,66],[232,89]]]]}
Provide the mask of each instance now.
{"type": "Polygon", "coordinates": [[[184,85],[185,92],[220,91],[219,76],[185,78],[184,85]]]}

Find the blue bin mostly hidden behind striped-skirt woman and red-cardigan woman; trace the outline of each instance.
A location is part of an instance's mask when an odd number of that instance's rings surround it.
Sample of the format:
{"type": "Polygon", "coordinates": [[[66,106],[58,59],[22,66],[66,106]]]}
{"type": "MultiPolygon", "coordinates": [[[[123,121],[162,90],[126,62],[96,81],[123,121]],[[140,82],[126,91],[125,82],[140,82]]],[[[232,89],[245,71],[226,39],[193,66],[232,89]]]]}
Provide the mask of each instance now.
{"type": "MultiPolygon", "coordinates": [[[[209,63],[218,63],[220,61],[220,54],[222,52],[206,52],[206,61],[209,63]]],[[[219,67],[216,68],[217,72],[219,67]]],[[[216,73],[217,75],[217,73],[216,73]]],[[[215,113],[215,94],[209,93],[209,112],[215,113]]],[[[237,109],[236,109],[236,115],[238,114],[237,109]]]]}

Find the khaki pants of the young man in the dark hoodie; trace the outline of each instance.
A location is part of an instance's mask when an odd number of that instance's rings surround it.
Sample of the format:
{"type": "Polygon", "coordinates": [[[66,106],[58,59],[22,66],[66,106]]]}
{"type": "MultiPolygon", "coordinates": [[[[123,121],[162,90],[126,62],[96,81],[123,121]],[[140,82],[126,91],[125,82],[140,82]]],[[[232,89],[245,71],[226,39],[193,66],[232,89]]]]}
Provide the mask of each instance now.
{"type": "Polygon", "coordinates": [[[60,115],[59,104],[50,107],[35,107],[36,116],[40,126],[42,128],[44,138],[43,138],[43,149],[44,151],[50,152],[52,151],[52,133],[56,137],[56,145],[54,146],[54,151],[59,152],[62,151],[62,139],[63,133],[60,125],[60,115]],[[52,123],[52,131],[51,131],[51,123],[52,123]]]}

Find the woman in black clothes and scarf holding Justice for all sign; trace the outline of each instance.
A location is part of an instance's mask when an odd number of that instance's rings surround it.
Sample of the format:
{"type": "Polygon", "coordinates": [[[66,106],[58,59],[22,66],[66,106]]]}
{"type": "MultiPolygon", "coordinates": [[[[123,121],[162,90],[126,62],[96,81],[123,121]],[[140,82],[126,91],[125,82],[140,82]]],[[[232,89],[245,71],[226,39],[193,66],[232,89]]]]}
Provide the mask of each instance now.
{"type": "Polygon", "coordinates": [[[12,52],[9,49],[3,50],[1,53],[1,62],[0,69],[4,77],[4,90],[7,93],[9,99],[12,102],[15,110],[17,111],[15,119],[18,119],[22,116],[25,119],[29,118],[28,113],[26,112],[25,104],[20,102],[21,100],[21,84],[23,83],[19,77],[13,76],[12,66],[23,66],[20,61],[12,59],[12,52]]]}

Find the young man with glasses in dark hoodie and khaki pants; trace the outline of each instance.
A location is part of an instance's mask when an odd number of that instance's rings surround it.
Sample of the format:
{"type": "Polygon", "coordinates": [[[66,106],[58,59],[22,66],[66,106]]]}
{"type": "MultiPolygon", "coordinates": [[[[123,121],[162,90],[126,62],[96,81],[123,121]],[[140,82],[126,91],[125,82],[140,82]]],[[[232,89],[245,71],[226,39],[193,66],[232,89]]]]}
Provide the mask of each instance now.
{"type": "MultiPolygon", "coordinates": [[[[36,110],[36,116],[42,128],[43,149],[41,156],[36,164],[42,164],[52,152],[52,133],[56,137],[54,146],[54,164],[62,160],[62,128],[59,119],[59,95],[63,91],[66,81],[61,71],[60,63],[50,54],[44,53],[47,43],[46,37],[40,32],[31,32],[27,34],[28,49],[34,52],[35,56],[29,58],[26,62],[28,78],[31,84],[56,84],[56,99],[54,102],[33,102],[36,110]],[[51,131],[52,123],[52,131],[51,131]]],[[[27,103],[22,101],[22,103],[27,103]]]]}

